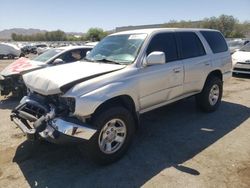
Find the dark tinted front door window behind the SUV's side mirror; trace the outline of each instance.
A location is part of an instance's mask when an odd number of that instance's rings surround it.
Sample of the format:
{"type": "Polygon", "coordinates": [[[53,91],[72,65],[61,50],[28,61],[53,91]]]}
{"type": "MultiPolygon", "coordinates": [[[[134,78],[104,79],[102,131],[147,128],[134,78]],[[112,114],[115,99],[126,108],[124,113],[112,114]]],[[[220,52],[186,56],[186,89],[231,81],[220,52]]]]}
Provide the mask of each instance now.
{"type": "Polygon", "coordinates": [[[162,51],[166,55],[166,61],[178,59],[175,36],[173,33],[160,33],[155,35],[147,49],[147,55],[153,51],[162,51]]]}

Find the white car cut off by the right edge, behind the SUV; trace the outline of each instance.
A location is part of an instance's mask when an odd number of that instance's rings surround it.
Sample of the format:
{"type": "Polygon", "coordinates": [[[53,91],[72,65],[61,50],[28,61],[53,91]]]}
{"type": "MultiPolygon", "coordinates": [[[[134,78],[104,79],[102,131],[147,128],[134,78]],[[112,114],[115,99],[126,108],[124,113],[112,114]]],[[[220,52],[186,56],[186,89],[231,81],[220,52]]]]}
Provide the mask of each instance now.
{"type": "Polygon", "coordinates": [[[233,73],[250,74],[250,43],[232,55],[233,73]]]}

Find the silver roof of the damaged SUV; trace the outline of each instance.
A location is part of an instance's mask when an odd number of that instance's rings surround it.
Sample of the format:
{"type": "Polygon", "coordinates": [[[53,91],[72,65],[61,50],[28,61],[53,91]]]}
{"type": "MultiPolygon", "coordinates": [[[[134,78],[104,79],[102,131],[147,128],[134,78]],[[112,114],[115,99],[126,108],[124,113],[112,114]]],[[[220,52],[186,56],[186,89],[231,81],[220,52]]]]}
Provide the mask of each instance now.
{"type": "Polygon", "coordinates": [[[136,33],[151,34],[158,31],[217,31],[217,30],[205,29],[205,28],[152,28],[152,29],[136,29],[136,30],[122,31],[114,33],[112,35],[136,34],[136,33]]]}

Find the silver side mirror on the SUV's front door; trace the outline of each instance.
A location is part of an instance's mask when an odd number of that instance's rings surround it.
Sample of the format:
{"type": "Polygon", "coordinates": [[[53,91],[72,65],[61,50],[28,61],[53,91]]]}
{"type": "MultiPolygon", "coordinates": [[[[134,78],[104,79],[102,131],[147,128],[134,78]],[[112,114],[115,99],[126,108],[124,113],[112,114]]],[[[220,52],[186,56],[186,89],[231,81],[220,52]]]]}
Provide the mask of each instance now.
{"type": "Polygon", "coordinates": [[[159,51],[154,51],[151,52],[147,57],[146,57],[146,65],[160,65],[160,64],[165,64],[166,63],[166,58],[165,58],[165,53],[164,52],[159,52],[159,51]]]}

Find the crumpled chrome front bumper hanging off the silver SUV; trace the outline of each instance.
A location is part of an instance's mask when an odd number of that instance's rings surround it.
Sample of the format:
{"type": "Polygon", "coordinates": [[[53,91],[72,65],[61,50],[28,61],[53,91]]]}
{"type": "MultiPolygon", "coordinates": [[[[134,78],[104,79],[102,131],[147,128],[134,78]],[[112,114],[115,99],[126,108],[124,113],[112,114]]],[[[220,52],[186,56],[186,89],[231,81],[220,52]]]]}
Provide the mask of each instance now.
{"type": "Polygon", "coordinates": [[[10,118],[31,140],[41,137],[53,143],[81,142],[91,139],[96,133],[96,129],[76,118],[56,117],[54,113],[53,107],[24,97],[10,118]],[[43,112],[43,115],[37,118],[36,111],[43,112]]]}

